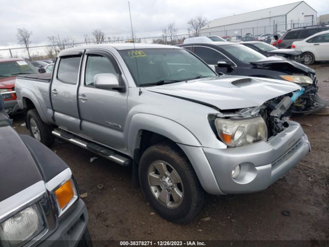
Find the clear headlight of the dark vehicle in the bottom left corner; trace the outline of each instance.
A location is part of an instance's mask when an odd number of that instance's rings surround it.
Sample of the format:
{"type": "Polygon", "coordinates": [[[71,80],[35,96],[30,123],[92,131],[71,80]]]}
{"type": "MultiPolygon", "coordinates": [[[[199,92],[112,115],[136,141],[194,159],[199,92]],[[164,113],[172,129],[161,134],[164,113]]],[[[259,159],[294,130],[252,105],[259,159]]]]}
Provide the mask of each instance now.
{"type": "Polygon", "coordinates": [[[0,239],[9,246],[21,245],[45,229],[45,222],[38,205],[33,204],[0,223],[0,239]]]}

